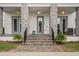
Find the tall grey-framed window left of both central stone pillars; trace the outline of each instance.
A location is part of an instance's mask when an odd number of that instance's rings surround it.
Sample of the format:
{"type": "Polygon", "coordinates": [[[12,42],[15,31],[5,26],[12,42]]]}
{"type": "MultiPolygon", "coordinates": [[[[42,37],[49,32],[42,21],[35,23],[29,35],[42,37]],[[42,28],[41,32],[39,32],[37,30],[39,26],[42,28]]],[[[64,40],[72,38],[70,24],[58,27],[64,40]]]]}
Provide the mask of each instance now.
{"type": "Polygon", "coordinates": [[[21,17],[12,16],[12,32],[14,34],[21,32],[21,17]]]}

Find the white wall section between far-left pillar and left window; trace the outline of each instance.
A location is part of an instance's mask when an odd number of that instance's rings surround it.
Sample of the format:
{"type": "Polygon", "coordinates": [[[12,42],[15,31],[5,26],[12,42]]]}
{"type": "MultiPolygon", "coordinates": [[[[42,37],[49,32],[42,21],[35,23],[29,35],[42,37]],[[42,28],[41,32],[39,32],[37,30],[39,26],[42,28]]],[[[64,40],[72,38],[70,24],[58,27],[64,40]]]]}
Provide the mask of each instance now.
{"type": "Polygon", "coordinates": [[[11,16],[5,12],[3,12],[3,26],[5,29],[5,34],[12,34],[11,16]]]}

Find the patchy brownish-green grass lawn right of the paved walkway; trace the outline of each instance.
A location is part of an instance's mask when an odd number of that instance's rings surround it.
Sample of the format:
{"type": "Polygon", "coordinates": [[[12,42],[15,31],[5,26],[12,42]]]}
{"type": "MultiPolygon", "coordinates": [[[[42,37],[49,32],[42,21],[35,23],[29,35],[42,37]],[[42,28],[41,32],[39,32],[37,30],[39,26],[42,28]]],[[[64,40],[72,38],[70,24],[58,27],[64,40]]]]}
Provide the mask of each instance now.
{"type": "Polygon", "coordinates": [[[79,52],[79,43],[65,43],[59,45],[66,52],[79,52]]]}

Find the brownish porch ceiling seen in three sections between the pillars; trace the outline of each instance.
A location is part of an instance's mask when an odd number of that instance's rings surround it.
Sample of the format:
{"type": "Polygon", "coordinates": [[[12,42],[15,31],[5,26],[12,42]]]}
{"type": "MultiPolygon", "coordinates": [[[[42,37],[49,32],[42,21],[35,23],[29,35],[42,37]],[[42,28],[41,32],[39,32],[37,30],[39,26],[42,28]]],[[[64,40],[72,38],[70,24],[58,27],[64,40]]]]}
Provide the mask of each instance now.
{"type": "MultiPolygon", "coordinates": [[[[3,7],[3,10],[6,13],[16,13],[16,11],[21,12],[20,7],[3,7]]],[[[41,13],[50,13],[50,7],[29,7],[29,11],[36,13],[40,11],[41,13]]],[[[61,12],[64,11],[65,15],[70,14],[76,11],[75,7],[58,7],[58,15],[61,15],[61,12]]]]}

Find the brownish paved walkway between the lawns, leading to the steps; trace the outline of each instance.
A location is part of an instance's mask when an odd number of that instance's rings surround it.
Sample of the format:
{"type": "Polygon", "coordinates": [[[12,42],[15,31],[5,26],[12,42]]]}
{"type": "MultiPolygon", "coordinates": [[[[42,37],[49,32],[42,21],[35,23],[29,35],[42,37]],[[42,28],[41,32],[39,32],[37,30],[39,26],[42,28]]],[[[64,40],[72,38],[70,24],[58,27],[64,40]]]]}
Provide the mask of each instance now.
{"type": "Polygon", "coordinates": [[[9,52],[63,52],[63,50],[56,45],[20,45],[9,52]]]}

